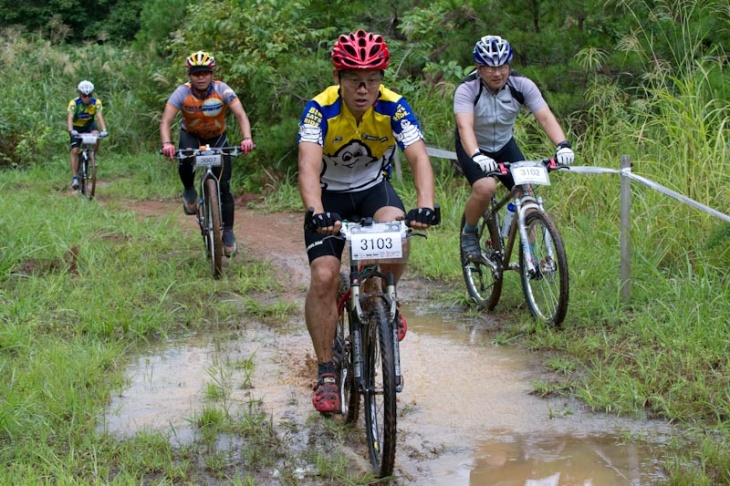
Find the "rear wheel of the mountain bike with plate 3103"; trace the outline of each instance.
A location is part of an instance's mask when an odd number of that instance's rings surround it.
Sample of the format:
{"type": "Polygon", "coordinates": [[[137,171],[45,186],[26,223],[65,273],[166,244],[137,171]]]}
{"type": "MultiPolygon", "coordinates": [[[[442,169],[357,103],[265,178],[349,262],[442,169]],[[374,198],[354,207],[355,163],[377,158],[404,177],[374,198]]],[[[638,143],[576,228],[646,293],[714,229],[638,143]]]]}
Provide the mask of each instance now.
{"type": "MultiPolygon", "coordinates": [[[[345,272],[340,273],[340,290],[337,293],[337,302],[349,295],[350,279],[345,272]]],[[[337,319],[337,333],[335,334],[335,366],[340,374],[340,400],[342,402],[343,420],[346,424],[357,421],[360,413],[360,392],[355,381],[355,360],[352,343],[352,326],[357,325],[355,317],[349,313],[347,305],[341,309],[337,319]]]]}

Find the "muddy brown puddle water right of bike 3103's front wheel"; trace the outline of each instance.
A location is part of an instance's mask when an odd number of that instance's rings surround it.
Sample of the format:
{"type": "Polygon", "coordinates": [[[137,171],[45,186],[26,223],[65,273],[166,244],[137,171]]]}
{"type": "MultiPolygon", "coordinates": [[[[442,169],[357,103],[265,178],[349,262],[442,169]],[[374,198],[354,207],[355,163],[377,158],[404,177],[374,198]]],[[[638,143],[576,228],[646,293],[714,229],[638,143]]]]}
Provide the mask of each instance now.
{"type": "Polygon", "coordinates": [[[420,437],[408,439],[414,448],[419,441],[452,444],[420,465],[429,479],[414,484],[638,486],[666,480],[660,459],[666,424],[532,396],[531,380],[541,369],[534,353],[494,346],[483,327],[443,313],[403,310],[413,338],[409,334],[412,341],[401,348],[402,398],[417,407],[399,428],[410,423],[418,430],[413,435],[420,437]]]}

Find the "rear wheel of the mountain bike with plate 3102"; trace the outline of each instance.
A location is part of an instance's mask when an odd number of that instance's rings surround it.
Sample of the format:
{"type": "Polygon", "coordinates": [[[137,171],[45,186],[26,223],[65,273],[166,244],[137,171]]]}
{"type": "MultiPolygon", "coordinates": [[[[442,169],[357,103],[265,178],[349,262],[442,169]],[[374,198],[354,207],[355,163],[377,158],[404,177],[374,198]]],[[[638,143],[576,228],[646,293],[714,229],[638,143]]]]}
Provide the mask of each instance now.
{"type": "MultiPolygon", "coordinates": [[[[461,217],[459,226],[459,252],[461,255],[461,270],[464,282],[472,300],[489,311],[494,309],[502,295],[502,272],[494,271],[484,261],[469,260],[461,250],[461,235],[464,233],[466,218],[461,217]]],[[[489,258],[498,258],[501,254],[501,240],[494,218],[482,217],[479,224],[479,242],[482,245],[482,254],[489,258]]],[[[497,262],[498,264],[500,262],[497,262]]]]}

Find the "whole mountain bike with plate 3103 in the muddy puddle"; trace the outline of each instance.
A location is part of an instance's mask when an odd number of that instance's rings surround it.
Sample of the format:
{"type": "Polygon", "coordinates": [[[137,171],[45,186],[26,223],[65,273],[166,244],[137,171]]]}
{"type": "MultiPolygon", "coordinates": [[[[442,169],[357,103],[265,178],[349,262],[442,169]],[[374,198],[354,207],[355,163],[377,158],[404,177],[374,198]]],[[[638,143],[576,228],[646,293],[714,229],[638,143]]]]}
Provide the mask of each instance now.
{"type": "MultiPolygon", "coordinates": [[[[435,208],[436,222],[441,211],[435,208]]],[[[312,211],[305,225],[311,227],[312,211]]],[[[426,238],[407,220],[380,223],[372,218],[343,221],[338,235],[348,245],[349,272],[340,273],[337,295],[337,332],[334,363],[339,375],[339,414],[355,423],[363,398],[365,435],[370,463],[380,477],[390,476],[395,465],[396,393],[403,390],[396,319],[396,284],[380,264],[406,263],[408,239],[426,238]]]]}

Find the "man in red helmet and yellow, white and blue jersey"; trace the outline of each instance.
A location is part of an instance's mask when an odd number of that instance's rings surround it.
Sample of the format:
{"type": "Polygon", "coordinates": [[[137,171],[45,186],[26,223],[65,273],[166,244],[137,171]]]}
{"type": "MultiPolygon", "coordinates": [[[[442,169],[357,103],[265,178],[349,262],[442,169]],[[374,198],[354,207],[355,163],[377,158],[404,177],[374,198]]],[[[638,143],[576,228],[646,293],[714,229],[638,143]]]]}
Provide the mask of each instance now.
{"type": "MultiPolygon", "coordinates": [[[[408,214],[415,229],[434,222],[434,177],[420,125],[405,98],[383,86],[390,63],[382,36],[358,30],[341,35],[332,49],[333,86],[315,96],[299,123],[299,191],[314,208],[316,230],[304,230],[310,263],[305,319],[319,365],[312,402],[320,412],[340,409],[339,383],[332,362],[337,324],[335,297],[344,243],[324,239],[341,220],[354,215],[377,221],[406,216],[388,181],[398,147],[413,171],[418,209],[408,214]]],[[[396,279],[405,265],[386,268],[396,279]]],[[[406,332],[398,312],[398,337],[406,332]]]]}

